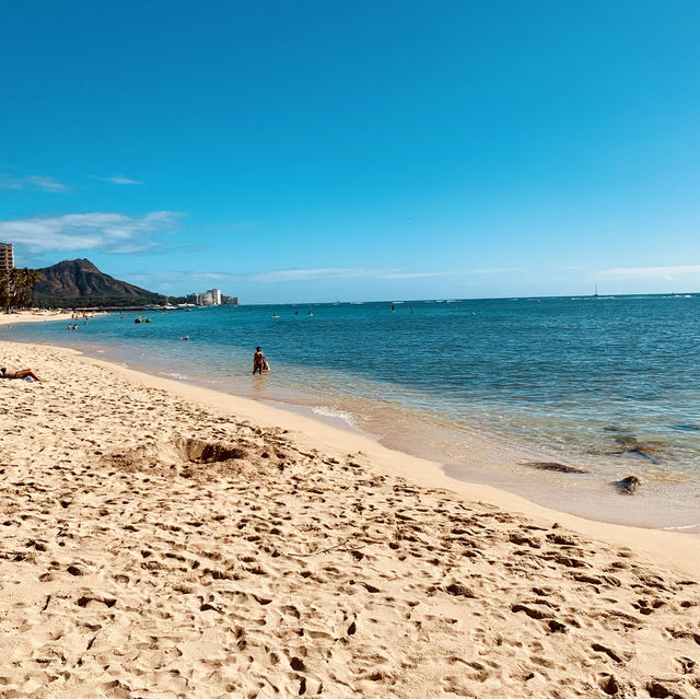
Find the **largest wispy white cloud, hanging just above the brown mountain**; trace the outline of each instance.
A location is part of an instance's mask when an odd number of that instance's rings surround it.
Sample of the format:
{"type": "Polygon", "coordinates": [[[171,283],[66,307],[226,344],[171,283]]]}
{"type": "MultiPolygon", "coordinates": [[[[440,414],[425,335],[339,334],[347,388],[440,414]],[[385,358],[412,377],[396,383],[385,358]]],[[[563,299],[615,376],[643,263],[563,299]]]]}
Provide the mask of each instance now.
{"type": "Polygon", "coordinates": [[[160,245],[153,237],[172,231],[180,215],[174,211],[153,211],[141,218],[96,212],[0,221],[0,238],[26,246],[31,253],[145,252],[160,245]]]}

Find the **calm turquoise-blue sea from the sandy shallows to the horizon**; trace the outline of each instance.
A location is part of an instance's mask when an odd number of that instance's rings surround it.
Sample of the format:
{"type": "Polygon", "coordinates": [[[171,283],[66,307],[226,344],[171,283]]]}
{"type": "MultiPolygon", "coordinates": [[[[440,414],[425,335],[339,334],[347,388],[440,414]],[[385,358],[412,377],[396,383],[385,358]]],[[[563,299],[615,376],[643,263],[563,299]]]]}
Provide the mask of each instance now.
{"type": "Polygon", "coordinates": [[[2,337],[294,406],[555,509],[700,532],[700,295],[136,315],[2,337]],[[256,345],[272,366],[262,377],[250,375],[256,345]],[[621,494],[612,484],[630,475],[642,485],[621,494]]]}

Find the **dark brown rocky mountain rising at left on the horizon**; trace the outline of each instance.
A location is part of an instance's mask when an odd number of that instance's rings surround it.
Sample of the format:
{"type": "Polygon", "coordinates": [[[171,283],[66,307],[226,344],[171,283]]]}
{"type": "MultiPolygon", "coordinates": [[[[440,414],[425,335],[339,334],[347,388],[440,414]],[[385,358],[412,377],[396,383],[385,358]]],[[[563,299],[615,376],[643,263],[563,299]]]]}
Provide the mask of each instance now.
{"type": "Polygon", "coordinates": [[[34,304],[43,306],[129,306],[165,303],[160,293],[101,272],[89,259],[67,259],[38,270],[34,304]]]}

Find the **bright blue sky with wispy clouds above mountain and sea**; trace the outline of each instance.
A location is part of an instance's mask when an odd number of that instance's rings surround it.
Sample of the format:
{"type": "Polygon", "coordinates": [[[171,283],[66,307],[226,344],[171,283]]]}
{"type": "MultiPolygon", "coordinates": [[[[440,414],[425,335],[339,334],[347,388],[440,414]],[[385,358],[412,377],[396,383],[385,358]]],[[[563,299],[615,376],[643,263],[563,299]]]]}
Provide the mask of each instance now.
{"type": "Polygon", "coordinates": [[[4,3],[0,241],[243,302],[700,291],[700,3],[4,3]]]}

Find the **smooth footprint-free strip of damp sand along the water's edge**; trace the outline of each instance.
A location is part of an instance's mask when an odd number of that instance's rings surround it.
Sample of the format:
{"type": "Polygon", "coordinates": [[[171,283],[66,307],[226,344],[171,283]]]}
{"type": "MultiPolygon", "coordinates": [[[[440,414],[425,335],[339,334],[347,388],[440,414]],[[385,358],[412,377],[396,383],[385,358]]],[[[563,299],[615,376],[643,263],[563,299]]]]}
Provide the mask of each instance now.
{"type": "MultiPolygon", "coordinates": [[[[12,341],[11,343],[22,346],[21,342],[12,341]]],[[[289,430],[294,433],[294,440],[304,448],[315,448],[336,456],[359,452],[366,456],[373,466],[384,475],[406,478],[423,488],[450,491],[467,501],[485,502],[506,512],[516,512],[541,524],[557,522],[585,536],[642,551],[664,564],[700,579],[700,536],[695,533],[634,527],[569,514],[490,485],[451,477],[445,473],[444,465],[440,462],[388,448],[369,434],[331,426],[316,417],[303,415],[301,411],[279,408],[255,398],[236,396],[149,374],[110,361],[92,358],[70,348],[49,345],[40,347],[65,353],[80,362],[101,366],[144,387],[163,389],[187,400],[205,405],[222,415],[233,415],[236,419],[249,421],[259,428],[289,430]]]]}

